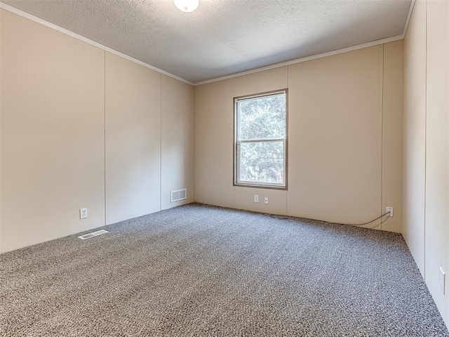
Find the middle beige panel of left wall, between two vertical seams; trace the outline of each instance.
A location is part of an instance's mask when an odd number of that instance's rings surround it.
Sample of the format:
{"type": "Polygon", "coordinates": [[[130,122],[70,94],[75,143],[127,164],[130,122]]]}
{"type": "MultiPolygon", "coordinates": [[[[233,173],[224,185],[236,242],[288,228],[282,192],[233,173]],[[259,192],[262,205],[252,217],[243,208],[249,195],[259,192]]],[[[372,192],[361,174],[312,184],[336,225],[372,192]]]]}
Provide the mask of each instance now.
{"type": "Polygon", "coordinates": [[[106,223],[161,209],[161,74],[106,53],[106,223]]]}

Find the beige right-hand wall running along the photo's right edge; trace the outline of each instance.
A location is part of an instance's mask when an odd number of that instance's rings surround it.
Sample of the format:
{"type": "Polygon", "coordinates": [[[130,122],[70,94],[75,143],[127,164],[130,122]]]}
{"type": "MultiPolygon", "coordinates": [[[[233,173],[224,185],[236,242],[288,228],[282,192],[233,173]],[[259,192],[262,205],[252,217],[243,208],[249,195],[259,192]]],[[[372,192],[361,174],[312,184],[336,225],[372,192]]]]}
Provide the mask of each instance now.
{"type": "Polygon", "coordinates": [[[448,325],[438,277],[449,270],[448,1],[416,1],[404,58],[404,237],[448,325]]]}

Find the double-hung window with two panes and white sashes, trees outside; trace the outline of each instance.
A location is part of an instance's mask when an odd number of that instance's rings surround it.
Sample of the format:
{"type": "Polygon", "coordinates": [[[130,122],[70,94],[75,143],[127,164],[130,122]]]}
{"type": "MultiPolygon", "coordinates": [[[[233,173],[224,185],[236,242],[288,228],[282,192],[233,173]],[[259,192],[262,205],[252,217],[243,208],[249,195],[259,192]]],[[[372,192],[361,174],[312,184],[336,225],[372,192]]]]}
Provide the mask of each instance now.
{"type": "Polygon", "coordinates": [[[286,189],[287,91],[234,98],[234,185],[286,189]]]}

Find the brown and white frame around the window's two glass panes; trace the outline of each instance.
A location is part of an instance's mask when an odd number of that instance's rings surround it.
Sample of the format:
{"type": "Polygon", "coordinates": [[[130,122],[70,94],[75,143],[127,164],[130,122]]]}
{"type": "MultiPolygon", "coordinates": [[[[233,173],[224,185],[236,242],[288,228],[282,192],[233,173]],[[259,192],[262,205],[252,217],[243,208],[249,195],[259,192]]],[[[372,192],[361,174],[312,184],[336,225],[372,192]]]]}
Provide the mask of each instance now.
{"type": "Polygon", "coordinates": [[[255,187],[255,188],[265,188],[265,189],[272,189],[272,190],[288,190],[288,88],[279,89],[275,91],[266,91],[264,93],[256,93],[252,95],[243,95],[243,96],[237,96],[233,98],[234,102],[234,125],[233,125],[233,133],[234,133],[234,139],[233,139],[233,156],[232,156],[232,166],[233,166],[233,186],[238,187],[255,187]],[[255,139],[255,140],[237,140],[238,137],[238,130],[236,128],[237,126],[237,104],[239,100],[242,99],[249,99],[249,98],[261,98],[263,96],[270,96],[270,95],[276,95],[279,93],[285,93],[286,95],[286,138],[270,138],[267,140],[262,139],[255,139]],[[283,185],[279,185],[276,183],[259,183],[259,182],[239,182],[238,174],[239,174],[239,149],[237,148],[240,144],[239,143],[263,143],[266,141],[283,141],[284,143],[284,157],[283,157],[283,171],[284,171],[284,183],[283,185]]]}

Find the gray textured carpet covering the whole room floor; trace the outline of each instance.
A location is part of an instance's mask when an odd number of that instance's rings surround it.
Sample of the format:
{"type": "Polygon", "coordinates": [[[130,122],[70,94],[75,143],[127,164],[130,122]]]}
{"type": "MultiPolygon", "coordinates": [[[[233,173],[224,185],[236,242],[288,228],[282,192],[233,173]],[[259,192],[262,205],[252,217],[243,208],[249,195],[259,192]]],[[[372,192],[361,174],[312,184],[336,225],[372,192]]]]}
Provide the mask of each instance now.
{"type": "Polygon", "coordinates": [[[449,336],[401,235],[190,204],[0,255],[1,336],[449,336]]]}

